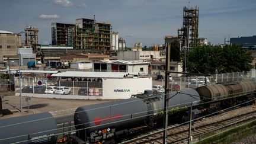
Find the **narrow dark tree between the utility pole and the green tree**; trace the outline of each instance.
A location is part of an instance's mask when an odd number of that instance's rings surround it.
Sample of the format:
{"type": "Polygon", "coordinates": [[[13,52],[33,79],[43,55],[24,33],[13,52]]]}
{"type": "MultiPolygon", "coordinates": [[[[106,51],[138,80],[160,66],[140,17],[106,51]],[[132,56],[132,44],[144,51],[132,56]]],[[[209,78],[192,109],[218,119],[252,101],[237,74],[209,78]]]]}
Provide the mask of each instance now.
{"type": "Polygon", "coordinates": [[[177,62],[181,61],[180,42],[177,40],[174,40],[171,43],[171,60],[177,62]]]}

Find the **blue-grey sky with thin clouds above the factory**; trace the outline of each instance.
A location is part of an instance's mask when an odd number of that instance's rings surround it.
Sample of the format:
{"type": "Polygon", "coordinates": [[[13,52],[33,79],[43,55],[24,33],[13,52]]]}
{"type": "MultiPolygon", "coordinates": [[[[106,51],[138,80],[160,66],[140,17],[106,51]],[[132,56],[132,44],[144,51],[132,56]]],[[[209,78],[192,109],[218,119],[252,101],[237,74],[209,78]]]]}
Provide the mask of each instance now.
{"type": "Polygon", "coordinates": [[[0,30],[20,33],[32,25],[39,28],[39,43],[51,44],[52,23],[75,24],[95,15],[96,21],[111,23],[127,47],[152,46],[177,36],[184,7],[199,7],[199,37],[212,44],[256,35],[255,0],[0,0],[0,30]]]}

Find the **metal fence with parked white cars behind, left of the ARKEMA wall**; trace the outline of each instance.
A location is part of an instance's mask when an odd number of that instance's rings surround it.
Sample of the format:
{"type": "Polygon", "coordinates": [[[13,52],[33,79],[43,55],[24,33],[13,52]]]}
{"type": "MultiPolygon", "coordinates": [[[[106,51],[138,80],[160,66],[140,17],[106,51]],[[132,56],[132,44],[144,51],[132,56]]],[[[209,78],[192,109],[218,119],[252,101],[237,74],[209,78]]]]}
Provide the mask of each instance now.
{"type": "MultiPolygon", "coordinates": [[[[19,79],[15,79],[15,89],[20,88],[19,79]]],[[[33,94],[69,94],[69,95],[87,95],[87,96],[102,96],[103,85],[102,82],[96,81],[52,81],[40,78],[22,78],[21,79],[21,92],[33,94]],[[63,92],[59,91],[46,91],[51,87],[60,88],[66,87],[68,89],[63,92]]]]}

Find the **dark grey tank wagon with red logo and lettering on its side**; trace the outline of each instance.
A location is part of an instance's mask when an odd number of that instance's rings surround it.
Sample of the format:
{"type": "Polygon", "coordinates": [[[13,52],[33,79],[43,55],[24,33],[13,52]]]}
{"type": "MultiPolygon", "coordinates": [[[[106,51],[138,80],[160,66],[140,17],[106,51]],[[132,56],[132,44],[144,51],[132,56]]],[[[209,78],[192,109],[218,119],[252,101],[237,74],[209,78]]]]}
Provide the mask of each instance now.
{"type": "MultiPolygon", "coordinates": [[[[146,91],[145,95],[138,95],[136,98],[78,107],[74,122],[76,129],[80,130],[79,137],[89,142],[97,142],[130,132],[139,124],[152,126],[155,120],[164,114],[162,96],[153,97],[152,91],[146,91]]],[[[194,89],[171,92],[170,97],[169,113],[186,110],[187,105],[200,100],[194,89]]]]}

